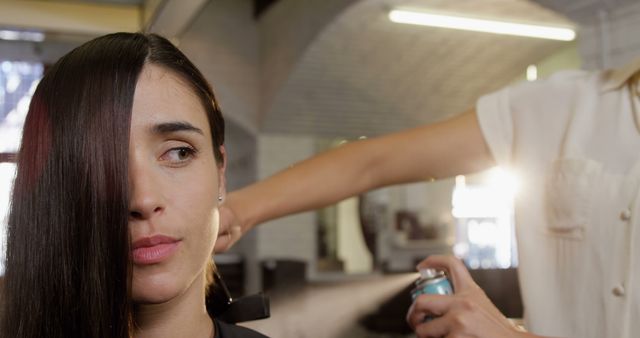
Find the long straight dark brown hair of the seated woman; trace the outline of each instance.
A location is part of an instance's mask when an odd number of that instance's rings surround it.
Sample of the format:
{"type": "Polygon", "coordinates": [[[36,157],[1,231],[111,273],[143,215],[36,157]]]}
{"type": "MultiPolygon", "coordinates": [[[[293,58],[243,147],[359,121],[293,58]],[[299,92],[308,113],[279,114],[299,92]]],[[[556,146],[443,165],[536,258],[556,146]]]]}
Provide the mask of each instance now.
{"type": "Polygon", "coordinates": [[[129,129],[145,64],[192,86],[223,162],[210,85],[169,41],[116,33],[74,49],[38,85],[8,219],[2,337],[130,337],[129,129]]]}

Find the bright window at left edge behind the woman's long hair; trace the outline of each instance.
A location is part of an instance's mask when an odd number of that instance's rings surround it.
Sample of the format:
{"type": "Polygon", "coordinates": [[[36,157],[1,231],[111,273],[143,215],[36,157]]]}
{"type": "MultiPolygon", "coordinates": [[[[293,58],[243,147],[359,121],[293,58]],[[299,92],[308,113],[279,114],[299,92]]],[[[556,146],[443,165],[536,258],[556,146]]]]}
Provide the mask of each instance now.
{"type": "Polygon", "coordinates": [[[16,153],[31,96],[42,73],[40,63],[0,60],[0,275],[4,274],[7,214],[16,153]]]}

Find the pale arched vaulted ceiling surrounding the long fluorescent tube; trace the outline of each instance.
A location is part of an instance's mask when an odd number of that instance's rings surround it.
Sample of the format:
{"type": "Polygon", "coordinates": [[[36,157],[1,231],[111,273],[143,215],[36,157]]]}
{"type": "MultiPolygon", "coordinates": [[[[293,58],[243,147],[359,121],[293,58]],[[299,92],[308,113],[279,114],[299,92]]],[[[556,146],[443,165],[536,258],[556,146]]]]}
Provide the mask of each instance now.
{"type": "Polygon", "coordinates": [[[365,0],[340,13],[307,47],[263,112],[262,129],[358,137],[431,122],[470,108],[568,46],[392,23],[390,7],[572,25],[525,0],[365,0]],[[336,121],[340,121],[336,123],[336,121]]]}

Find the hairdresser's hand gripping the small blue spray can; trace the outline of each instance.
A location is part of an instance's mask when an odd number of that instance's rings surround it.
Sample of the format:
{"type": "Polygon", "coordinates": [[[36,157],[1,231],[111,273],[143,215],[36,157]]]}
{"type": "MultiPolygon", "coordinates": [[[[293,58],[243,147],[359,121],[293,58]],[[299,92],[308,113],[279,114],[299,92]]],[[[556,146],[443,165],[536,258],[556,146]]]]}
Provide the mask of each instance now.
{"type": "Polygon", "coordinates": [[[421,268],[445,270],[453,295],[420,295],[409,308],[407,322],[422,337],[526,337],[491,303],[469,271],[453,256],[429,256],[421,268]],[[433,320],[423,322],[426,316],[433,320]]]}

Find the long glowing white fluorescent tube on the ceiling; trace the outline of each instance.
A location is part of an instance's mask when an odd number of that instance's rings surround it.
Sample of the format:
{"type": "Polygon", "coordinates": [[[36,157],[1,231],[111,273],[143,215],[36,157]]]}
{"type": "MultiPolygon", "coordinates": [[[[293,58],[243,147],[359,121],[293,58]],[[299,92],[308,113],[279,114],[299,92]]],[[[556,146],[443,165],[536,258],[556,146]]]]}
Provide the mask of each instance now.
{"type": "Polygon", "coordinates": [[[566,27],[531,25],[401,9],[390,11],[389,20],[397,23],[561,41],[572,41],[576,38],[576,32],[566,27]]]}

